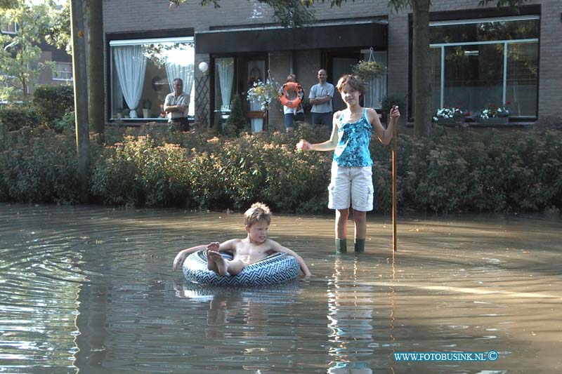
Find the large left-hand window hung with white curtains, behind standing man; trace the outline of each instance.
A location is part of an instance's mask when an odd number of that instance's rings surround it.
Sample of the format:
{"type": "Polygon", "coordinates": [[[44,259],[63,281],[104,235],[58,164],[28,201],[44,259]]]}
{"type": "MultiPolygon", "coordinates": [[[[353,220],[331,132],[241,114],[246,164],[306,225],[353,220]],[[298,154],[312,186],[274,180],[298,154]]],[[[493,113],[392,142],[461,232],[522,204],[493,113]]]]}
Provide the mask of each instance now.
{"type": "Polygon", "coordinates": [[[189,115],[193,116],[193,46],[192,36],[110,41],[112,119],[164,118],[164,98],[174,91],[176,78],[183,80],[183,91],[191,96],[189,115]]]}

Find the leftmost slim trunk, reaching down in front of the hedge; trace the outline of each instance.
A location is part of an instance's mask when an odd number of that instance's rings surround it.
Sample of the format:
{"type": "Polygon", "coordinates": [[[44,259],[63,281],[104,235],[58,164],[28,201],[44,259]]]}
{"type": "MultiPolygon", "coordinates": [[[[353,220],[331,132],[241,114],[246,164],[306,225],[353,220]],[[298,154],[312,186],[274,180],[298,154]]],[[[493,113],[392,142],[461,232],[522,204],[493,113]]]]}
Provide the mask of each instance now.
{"type": "Polygon", "coordinates": [[[86,76],[86,44],[84,43],[84,10],[82,0],[70,1],[72,34],[72,67],[74,69],[74,113],[76,145],[78,150],[78,177],[80,199],[88,201],[90,169],[90,131],[88,124],[88,97],[86,76]]]}

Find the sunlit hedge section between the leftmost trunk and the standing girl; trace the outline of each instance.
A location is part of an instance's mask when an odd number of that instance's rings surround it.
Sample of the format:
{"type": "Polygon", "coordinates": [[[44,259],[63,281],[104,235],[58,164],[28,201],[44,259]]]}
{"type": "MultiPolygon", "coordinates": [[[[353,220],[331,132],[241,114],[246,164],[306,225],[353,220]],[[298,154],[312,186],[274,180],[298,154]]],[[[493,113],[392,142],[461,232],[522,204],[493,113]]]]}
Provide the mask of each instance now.
{"type": "Polygon", "coordinates": [[[104,149],[91,176],[96,201],[242,210],[259,200],[277,211],[325,210],[329,160],[294,152],[284,134],[155,136],[127,135],[104,149]]]}

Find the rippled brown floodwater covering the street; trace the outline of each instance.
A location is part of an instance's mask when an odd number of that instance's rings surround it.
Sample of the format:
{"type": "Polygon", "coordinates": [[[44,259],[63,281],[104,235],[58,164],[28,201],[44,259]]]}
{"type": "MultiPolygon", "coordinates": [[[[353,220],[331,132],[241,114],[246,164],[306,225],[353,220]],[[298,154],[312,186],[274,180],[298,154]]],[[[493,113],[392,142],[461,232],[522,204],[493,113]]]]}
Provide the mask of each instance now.
{"type": "Polygon", "coordinates": [[[365,253],[335,255],[332,216],[274,215],[313,277],[211,288],[172,260],[245,236],[241,214],[3,204],[0,372],[562,371],[558,215],[401,217],[394,259],[391,219],[368,220],[365,253]]]}

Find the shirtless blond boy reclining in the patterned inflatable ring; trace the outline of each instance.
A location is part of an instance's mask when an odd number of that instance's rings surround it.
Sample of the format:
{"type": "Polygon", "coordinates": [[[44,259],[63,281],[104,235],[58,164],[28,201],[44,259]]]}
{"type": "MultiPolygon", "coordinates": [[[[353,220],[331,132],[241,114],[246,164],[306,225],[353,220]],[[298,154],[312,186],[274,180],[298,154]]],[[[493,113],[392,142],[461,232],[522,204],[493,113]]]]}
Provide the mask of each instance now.
{"type": "Polygon", "coordinates": [[[301,271],[305,276],[311,276],[310,270],[301,256],[285,248],[280,243],[268,238],[268,229],[271,222],[271,212],[263,203],[254,203],[246,213],[244,213],[244,225],[247,232],[246,239],[230,239],[223,243],[213,242],[207,246],[195,246],[180,251],[174,259],[172,269],[181,267],[183,261],[191,253],[207,249],[207,263],[209,270],[221,275],[236,275],[242,272],[247,265],[261,261],[275,252],[282,252],[292,255],[299,261],[301,271]],[[221,256],[220,252],[233,253],[233,259],[227,260],[221,256]]]}

